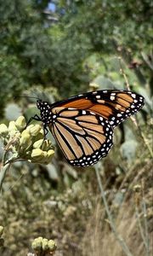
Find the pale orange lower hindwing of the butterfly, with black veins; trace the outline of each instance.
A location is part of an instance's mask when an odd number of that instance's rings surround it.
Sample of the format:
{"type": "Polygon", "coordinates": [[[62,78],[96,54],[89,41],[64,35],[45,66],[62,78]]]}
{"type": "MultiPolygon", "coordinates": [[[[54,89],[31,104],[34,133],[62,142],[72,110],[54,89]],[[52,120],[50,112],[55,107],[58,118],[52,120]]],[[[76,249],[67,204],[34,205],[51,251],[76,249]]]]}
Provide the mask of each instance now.
{"type": "Polygon", "coordinates": [[[49,128],[71,165],[91,166],[108,154],[113,131],[106,119],[85,110],[54,108],[53,111],[56,119],[49,128]]]}

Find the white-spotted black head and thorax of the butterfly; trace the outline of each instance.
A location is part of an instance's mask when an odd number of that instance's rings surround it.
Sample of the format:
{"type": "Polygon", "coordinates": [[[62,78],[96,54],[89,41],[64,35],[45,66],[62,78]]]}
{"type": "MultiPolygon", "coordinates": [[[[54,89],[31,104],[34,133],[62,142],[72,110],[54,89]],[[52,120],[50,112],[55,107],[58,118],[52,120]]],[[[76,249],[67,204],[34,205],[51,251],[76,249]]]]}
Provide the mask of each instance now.
{"type": "Polygon", "coordinates": [[[37,108],[40,110],[42,122],[46,125],[50,124],[52,122],[52,114],[49,103],[42,102],[42,100],[37,100],[37,108]]]}

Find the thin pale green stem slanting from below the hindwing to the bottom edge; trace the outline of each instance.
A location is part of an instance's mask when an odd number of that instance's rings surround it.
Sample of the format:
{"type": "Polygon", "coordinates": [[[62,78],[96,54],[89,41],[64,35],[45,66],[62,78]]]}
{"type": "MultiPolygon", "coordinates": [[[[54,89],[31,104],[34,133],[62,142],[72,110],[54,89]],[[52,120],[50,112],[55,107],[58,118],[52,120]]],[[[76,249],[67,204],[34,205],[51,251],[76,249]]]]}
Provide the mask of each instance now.
{"type": "Polygon", "coordinates": [[[108,215],[108,219],[109,219],[109,222],[110,222],[110,225],[111,225],[111,230],[113,231],[113,233],[116,237],[116,240],[121,245],[122,250],[124,251],[125,255],[133,256],[133,254],[129,251],[129,248],[127,247],[126,242],[123,240],[122,236],[120,236],[118,234],[117,230],[116,230],[116,225],[114,224],[113,218],[111,216],[111,212],[110,212],[109,207],[108,207],[108,203],[107,203],[106,198],[105,198],[105,191],[104,191],[103,185],[101,183],[101,179],[100,179],[100,176],[99,176],[99,168],[98,168],[97,165],[95,165],[95,172],[96,172],[97,181],[99,183],[99,190],[100,190],[100,193],[101,193],[101,197],[102,197],[102,200],[103,200],[104,205],[105,205],[105,211],[108,215]]]}

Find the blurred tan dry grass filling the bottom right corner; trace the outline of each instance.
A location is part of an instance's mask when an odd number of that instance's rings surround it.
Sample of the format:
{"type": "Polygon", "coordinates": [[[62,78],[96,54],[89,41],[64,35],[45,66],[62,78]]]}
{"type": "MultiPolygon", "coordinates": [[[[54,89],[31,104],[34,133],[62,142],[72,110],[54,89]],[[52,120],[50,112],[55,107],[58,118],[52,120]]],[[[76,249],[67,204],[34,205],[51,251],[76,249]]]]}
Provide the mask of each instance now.
{"type": "MultiPolygon", "coordinates": [[[[150,168],[151,162],[149,161],[147,165],[138,172],[138,175],[133,178],[131,187],[140,184],[136,192],[129,189],[120,206],[116,206],[113,202],[111,204],[111,212],[113,212],[111,215],[115,221],[116,231],[123,240],[126,241],[127,247],[134,256],[149,256],[153,253],[153,214],[151,212],[151,197],[153,191],[150,183],[152,177],[150,168]],[[143,185],[145,186],[143,187],[143,185]],[[144,212],[144,206],[146,207],[146,212],[144,212]],[[147,227],[148,234],[146,230],[147,227]],[[147,245],[148,241],[149,245],[147,245]]],[[[129,175],[127,178],[129,178],[129,175]]],[[[124,183],[125,180],[126,178],[124,179],[124,183]]],[[[101,201],[99,201],[94,208],[93,216],[88,221],[87,230],[82,240],[82,255],[127,255],[123,252],[122,247],[111,231],[111,225],[107,219],[105,207],[102,206],[101,201]]]]}

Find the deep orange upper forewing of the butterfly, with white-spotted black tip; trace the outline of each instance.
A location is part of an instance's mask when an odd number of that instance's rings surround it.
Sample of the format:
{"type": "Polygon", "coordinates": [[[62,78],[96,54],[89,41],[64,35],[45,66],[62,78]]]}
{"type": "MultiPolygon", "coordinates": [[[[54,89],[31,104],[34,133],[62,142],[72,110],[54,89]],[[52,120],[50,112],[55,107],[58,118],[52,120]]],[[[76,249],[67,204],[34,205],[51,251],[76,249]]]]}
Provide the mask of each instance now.
{"type": "Polygon", "coordinates": [[[108,119],[115,128],[144,106],[144,97],[129,90],[96,90],[73,96],[61,105],[65,108],[88,109],[108,119]]]}

